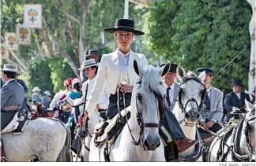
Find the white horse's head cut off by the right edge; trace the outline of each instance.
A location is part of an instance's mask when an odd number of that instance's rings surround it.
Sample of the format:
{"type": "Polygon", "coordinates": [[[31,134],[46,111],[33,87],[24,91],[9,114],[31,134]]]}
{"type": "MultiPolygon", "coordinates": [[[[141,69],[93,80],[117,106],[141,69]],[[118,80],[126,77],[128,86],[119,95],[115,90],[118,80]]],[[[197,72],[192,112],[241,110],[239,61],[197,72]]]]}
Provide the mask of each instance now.
{"type": "MultiPolygon", "coordinates": [[[[255,155],[255,146],[256,146],[256,142],[255,142],[255,108],[256,108],[256,104],[253,105],[251,104],[249,101],[247,101],[247,99],[245,99],[245,104],[247,106],[247,115],[245,117],[244,120],[244,124],[243,127],[244,128],[244,132],[246,135],[246,141],[247,141],[247,146],[249,151],[254,151],[254,155],[255,155]]],[[[250,152],[253,153],[253,152],[250,152]]]]}

